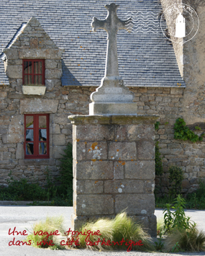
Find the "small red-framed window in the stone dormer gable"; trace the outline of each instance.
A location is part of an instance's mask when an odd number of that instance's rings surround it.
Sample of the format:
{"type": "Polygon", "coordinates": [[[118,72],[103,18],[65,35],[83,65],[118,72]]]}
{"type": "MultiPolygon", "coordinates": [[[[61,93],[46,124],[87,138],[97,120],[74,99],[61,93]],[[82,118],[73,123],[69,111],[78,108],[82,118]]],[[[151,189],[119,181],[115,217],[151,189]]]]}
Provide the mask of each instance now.
{"type": "Polygon", "coordinates": [[[23,85],[45,84],[45,60],[23,60],[23,85]]]}

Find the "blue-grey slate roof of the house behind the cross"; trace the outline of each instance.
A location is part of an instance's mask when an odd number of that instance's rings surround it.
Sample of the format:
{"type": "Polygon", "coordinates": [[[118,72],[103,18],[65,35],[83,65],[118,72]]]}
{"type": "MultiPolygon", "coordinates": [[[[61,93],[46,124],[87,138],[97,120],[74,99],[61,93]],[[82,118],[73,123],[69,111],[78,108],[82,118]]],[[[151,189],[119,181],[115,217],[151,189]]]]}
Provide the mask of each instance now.
{"type": "MultiPolygon", "coordinates": [[[[158,27],[158,33],[151,32],[151,25],[147,33],[137,32],[135,27],[131,33],[119,30],[119,75],[124,79],[124,84],[130,87],[176,87],[181,84],[184,87],[173,46],[160,30],[158,14],[162,7],[158,0],[113,2],[120,5],[117,10],[120,19],[128,12],[138,12],[137,15],[140,15],[139,12],[143,15],[152,12],[153,22],[158,27]]],[[[105,4],[111,4],[111,1],[0,0],[1,48],[6,48],[24,22],[36,17],[54,43],[65,49],[62,84],[99,87],[104,77],[106,32],[92,32],[91,21],[94,16],[106,18],[105,4]]],[[[163,27],[165,29],[165,22],[163,27]]],[[[4,74],[4,63],[0,60],[1,83],[8,84],[9,81],[4,74]]]]}

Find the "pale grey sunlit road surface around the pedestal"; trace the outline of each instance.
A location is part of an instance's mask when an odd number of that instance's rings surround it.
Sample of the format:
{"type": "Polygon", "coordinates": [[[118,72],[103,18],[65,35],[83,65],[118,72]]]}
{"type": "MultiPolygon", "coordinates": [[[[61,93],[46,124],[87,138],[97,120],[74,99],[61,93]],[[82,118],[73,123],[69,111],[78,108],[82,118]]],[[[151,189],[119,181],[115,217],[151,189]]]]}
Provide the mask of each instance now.
{"type": "MultiPolygon", "coordinates": [[[[36,221],[45,219],[46,216],[64,216],[65,218],[65,229],[68,230],[70,227],[70,216],[73,213],[72,207],[54,207],[54,206],[0,206],[0,255],[1,256],[122,256],[122,255],[132,255],[132,256],[165,256],[165,255],[205,255],[205,252],[201,253],[180,253],[180,254],[170,254],[170,253],[150,253],[150,252],[94,252],[88,250],[47,250],[38,249],[35,247],[30,247],[27,245],[22,246],[9,246],[9,241],[14,237],[20,241],[24,239],[23,236],[12,234],[9,235],[9,229],[13,230],[16,226],[17,231],[23,231],[24,229],[32,230],[32,224],[36,221]]],[[[186,211],[188,216],[198,224],[199,229],[205,231],[205,211],[186,211]]],[[[160,218],[163,216],[163,210],[155,210],[155,215],[160,218]]]]}

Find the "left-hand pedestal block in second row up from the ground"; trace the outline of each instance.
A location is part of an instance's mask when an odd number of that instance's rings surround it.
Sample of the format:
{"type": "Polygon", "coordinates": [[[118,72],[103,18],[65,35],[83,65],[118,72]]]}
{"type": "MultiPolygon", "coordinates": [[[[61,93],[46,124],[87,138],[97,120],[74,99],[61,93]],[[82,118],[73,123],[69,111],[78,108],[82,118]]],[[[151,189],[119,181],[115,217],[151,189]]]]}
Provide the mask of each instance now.
{"type": "Polygon", "coordinates": [[[76,215],[113,214],[114,200],[111,195],[76,195],[76,215]]]}

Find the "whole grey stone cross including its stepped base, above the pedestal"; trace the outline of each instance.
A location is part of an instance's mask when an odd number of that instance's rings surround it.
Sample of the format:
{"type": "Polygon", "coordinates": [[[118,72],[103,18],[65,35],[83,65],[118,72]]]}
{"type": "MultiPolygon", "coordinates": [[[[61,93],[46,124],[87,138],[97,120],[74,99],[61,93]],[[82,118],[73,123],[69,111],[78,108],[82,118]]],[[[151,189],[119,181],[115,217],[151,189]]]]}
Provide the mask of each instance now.
{"type": "Polygon", "coordinates": [[[134,94],[124,86],[119,76],[117,59],[117,31],[129,30],[132,26],[131,18],[121,20],[117,17],[117,4],[106,4],[108,11],[104,20],[93,18],[93,30],[106,30],[107,50],[105,76],[96,92],[91,94],[92,103],[89,104],[89,115],[136,115],[137,103],[133,102],[134,94]]]}

